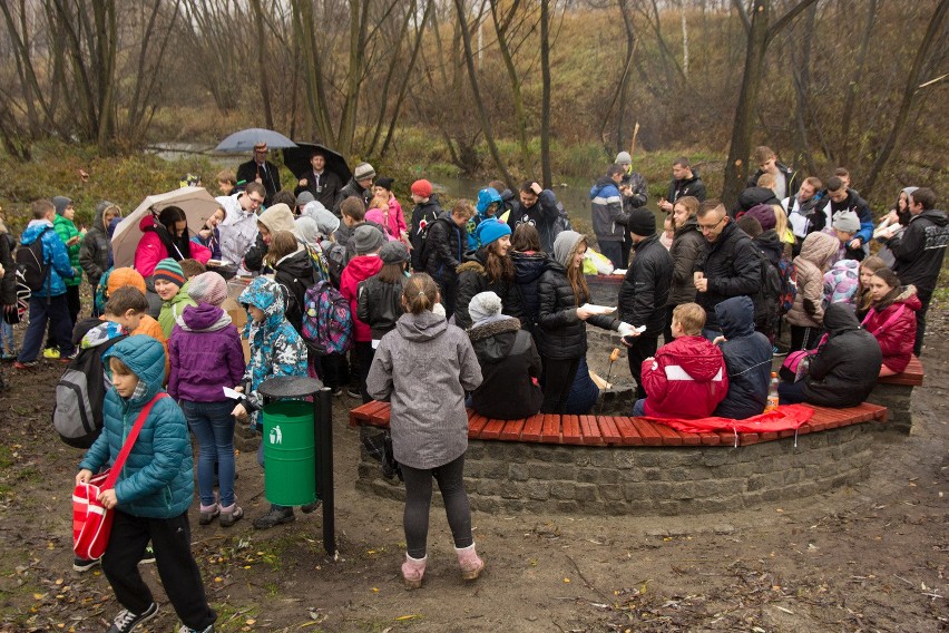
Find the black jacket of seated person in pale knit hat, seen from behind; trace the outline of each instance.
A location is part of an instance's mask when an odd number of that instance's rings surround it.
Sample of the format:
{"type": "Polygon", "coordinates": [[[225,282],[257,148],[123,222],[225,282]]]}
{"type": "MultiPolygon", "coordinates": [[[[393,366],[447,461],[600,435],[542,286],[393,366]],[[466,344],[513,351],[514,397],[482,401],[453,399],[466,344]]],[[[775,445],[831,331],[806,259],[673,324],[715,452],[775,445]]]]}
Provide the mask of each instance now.
{"type": "Polygon", "coordinates": [[[471,408],[486,418],[517,420],[540,410],[544,393],[537,383],[540,354],[517,319],[472,328],[468,335],[483,380],[471,393],[471,408]]]}

